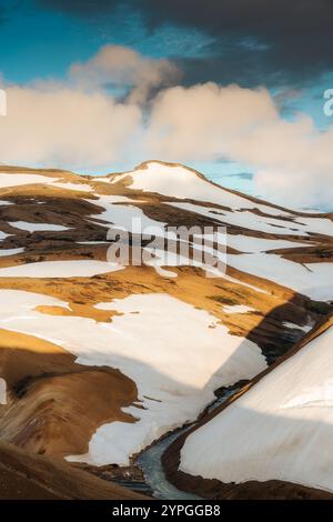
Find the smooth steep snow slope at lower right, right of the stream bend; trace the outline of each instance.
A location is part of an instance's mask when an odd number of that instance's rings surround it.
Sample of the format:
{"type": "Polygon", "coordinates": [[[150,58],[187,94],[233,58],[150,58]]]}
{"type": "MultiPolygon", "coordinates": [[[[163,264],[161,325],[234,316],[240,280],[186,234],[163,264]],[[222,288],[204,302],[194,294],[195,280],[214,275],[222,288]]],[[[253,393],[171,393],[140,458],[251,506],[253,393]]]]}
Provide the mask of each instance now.
{"type": "Polygon", "coordinates": [[[333,491],[333,328],[209,423],[180,469],[222,482],[282,480],[333,491]]]}

